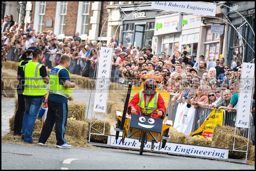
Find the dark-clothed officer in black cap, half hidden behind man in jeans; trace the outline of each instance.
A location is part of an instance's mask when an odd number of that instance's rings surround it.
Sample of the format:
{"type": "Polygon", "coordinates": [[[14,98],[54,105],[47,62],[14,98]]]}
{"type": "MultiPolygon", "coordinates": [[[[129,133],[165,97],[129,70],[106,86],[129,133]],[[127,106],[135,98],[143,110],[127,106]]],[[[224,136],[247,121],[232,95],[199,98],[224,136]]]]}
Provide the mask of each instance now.
{"type": "Polygon", "coordinates": [[[32,61],[33,50],[36,47],[30,47],[27,51],[23,52],[20,59],[20,63],[18,66],[17,79],[19,80],[19,84],[17,86],[17,94],[18,94],[18,109],[16,111],[14,117],[14,133],[13,135],[21,136],[21,128],[22,128],[22,120],[25,111],[25,96],[22,94],[24,91],[24,82],[25,82],[25,74],[23,71],[24,65],[32,61]]]}

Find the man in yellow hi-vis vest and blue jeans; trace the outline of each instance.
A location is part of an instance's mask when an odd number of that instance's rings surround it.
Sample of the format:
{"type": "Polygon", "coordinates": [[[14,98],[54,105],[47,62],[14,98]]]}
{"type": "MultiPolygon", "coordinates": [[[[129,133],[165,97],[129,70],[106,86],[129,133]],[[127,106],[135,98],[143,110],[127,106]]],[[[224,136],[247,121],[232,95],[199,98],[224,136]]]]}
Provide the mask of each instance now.
{"type": "Polygon", "coordinates": [[[49,77],[44,65],[38,63],[43,58],[41,49],[34,49],[33,61],[24,65],[25,73],[24,92],[25,112],[23,116],[21,138],[25,143],[36,143],[33,141],[32,132],[43,97],[47,93],[45,84],[49,83],[49,77]]]}

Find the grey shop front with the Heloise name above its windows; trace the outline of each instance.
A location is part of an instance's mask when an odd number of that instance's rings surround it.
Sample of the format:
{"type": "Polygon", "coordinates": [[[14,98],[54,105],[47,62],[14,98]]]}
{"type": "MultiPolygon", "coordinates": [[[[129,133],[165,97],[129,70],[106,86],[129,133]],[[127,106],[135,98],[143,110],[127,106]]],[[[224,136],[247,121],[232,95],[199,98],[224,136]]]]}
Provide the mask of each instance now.
{"type": "MultiPolygon", "coordinates": [[[[121,6],[122,19],[126,18],[123,23],[120,23],[120,37],[124,46],[133,45],[143,47],[153,47],[152,41],[155,28],[155,15],[157,11],[149,10],[151,4],[142,5],[138,10],[134,11],[138,4],[126,4],[121,6]]],[[[122,20],[120,19],[120,20],[122,20]]]]}

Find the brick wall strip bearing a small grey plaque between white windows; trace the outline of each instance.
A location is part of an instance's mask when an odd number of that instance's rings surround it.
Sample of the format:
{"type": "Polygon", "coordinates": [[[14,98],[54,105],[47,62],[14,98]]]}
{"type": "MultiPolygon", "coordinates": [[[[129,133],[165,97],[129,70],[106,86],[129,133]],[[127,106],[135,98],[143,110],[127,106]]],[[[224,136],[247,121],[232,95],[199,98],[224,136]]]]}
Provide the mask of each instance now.
{"type": "Polygon", "coordinates": [[[43,31],[47,31],[47,30],[54,31],[56,5],[57,5],[57,2],[46,1],[43,31]],[[53,20],[52,21],[52,27],[45,27],[47,19],[52,19],[53,20]]]}

